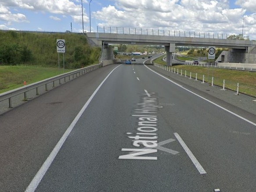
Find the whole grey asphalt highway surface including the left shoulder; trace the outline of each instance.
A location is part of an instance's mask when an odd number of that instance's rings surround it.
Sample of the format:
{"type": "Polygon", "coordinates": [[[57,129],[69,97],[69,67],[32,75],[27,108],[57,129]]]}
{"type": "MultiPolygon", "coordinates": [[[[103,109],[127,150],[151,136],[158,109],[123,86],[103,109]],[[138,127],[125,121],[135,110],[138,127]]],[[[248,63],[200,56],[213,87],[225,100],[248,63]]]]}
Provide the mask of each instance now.
{"type": "Polygon", "coordinates": [[[0,115],[0,191],[255,191],[256,116],[143,61],[92,71],[0,115]]]}

